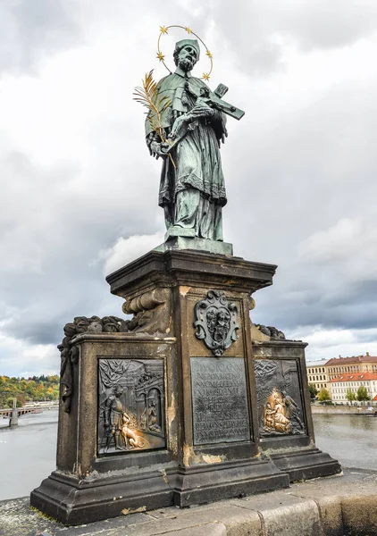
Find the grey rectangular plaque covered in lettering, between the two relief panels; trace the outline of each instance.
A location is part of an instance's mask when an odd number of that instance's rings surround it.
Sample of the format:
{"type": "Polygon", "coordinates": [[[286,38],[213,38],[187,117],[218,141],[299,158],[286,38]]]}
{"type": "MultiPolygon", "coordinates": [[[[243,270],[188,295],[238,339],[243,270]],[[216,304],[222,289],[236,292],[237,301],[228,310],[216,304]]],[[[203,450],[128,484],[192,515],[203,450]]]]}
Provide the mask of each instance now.
{"type": "Polygon", "coordinates": [[[250,439],[242,357],[191,357],[194,445],[250,439]]]}

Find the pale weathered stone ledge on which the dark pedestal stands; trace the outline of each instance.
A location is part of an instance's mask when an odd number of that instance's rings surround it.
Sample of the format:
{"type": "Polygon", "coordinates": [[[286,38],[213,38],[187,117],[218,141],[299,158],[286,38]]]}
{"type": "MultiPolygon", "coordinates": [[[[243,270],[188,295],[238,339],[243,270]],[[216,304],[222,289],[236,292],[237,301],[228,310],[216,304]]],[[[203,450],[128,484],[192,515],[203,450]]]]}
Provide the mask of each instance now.
{"type": "Polygon", "coordinates": [[[377,472],[297,482],[287,490],[210,505],[162,508],[66,528],[29,508],[0,502],[1,536],[372,536],[377,534],[377,472]]]}

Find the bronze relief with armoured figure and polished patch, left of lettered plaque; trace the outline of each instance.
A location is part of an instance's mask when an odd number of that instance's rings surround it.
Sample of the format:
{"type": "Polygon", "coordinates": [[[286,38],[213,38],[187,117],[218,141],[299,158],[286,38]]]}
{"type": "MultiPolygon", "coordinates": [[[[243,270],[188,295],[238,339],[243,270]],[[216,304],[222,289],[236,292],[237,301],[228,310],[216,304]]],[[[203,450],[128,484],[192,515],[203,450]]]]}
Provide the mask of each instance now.
{"type": "Polygon", "coordinates": [[[162,359],[98,360],[98,454],[163,448],[162,359]]]}

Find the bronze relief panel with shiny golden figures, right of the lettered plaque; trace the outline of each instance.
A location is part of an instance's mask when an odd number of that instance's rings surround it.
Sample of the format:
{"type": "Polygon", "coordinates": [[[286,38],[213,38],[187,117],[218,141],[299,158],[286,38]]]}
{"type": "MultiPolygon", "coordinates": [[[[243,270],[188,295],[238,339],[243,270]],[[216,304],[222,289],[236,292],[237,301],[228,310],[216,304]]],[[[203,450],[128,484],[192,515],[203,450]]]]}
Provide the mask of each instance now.
{"type": "Polygon", "coordinates": [[[297,361],[256,359],[254,368],[261,437],[305,434],[297,361]]]}

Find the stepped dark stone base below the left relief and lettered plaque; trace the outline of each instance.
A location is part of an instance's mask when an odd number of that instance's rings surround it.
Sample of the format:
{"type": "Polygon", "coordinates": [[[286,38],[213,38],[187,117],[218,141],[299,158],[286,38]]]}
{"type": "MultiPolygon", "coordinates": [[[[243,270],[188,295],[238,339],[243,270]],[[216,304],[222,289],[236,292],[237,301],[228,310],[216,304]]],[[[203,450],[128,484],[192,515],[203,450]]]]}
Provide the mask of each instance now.
{"type": "Polygon", "coordinates": [[[267,458],[247,464],[123,472],[79,480],[54,472],[30,496],[31,506],[67,525],[133,511],[189,507],[289,487],[289,476],[267,458]]]}

